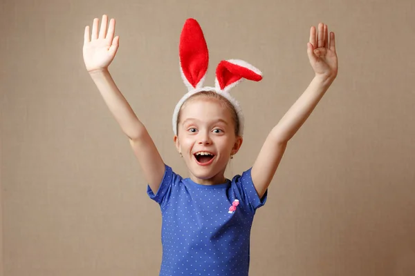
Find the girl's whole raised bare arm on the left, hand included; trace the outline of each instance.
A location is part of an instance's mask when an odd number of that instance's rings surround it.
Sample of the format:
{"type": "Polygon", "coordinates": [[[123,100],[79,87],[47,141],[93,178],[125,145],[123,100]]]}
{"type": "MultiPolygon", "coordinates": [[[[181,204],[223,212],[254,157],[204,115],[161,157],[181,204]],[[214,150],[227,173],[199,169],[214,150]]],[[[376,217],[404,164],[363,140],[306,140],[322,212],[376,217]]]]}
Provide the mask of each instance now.
{"type": "Polygon", "coordinates": [[[109,21],[108,28],[107,24],[108,17],[103,15],[99,32],[98,18],[93,20],[91,35],[89,26],[85,28],[83,54],[86,70],[113,117],[129,138],[145,179],[151,190],[156,193],[164,175],[165,164],[145,126],[133,112],[109,73],[108,66],[116,56],[119,38],[114,37],[115,19],[109,21]]]}

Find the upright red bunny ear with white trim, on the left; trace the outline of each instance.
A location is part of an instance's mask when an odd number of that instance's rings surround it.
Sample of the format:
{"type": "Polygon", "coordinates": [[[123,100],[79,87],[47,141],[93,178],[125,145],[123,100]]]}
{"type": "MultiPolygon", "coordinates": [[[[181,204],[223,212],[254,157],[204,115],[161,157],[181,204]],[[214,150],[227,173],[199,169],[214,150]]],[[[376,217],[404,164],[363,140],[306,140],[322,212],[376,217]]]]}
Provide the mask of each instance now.
{"type": "Polygon", "coordinates": [[[187,19],[183,26],[179,55],[181,73],[187,88],[201,88],[208,70],[209,52],[201,26],[195,19],[187,19]]]}

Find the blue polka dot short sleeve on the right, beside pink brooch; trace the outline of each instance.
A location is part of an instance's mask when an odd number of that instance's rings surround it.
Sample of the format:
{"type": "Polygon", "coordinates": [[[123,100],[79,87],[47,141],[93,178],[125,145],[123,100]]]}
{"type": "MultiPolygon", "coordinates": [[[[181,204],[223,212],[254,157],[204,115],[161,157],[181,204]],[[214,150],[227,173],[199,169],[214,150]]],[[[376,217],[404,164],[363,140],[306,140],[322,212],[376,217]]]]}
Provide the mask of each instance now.
{"type": "Polygon", "coordinates": [[[246,170],[242,175],[237,175],[234,177],[233,181],[238,187],[239,193],[243,200],[248,202],[251,210],[255,212],[257,208],[264,206],[267,196],[268,189],[264,193],[262,198],[259,198],[257,190],[255,190],[254,183],[252,182],[251,169],[246,170]]]}

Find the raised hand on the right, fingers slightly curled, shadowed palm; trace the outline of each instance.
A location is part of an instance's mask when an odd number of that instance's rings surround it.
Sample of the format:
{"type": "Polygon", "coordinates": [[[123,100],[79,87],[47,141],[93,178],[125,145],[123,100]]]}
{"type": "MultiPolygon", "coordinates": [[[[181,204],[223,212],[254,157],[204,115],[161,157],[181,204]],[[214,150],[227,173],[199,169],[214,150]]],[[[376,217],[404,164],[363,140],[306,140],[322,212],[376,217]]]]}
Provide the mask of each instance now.
{"type": "Polygon", "coordinates": [[[330,41],[328,34],[326,24],[318,24],[317,34],[315,27],[311,27],[307,54],[316,76],[335,79],[338,74],[338,59],[335,53],[334,32],[330,32],[330,41]]]}

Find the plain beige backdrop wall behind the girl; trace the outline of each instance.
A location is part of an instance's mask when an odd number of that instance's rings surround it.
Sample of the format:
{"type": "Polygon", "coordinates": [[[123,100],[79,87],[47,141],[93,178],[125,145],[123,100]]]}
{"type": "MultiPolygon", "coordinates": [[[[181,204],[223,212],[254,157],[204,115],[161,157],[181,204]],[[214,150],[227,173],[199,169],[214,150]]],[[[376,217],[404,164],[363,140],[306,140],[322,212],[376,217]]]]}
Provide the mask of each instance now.
{"type": "Polygon", "coordinates": [[[160,210],[84,70],[84,26],[109,14],[110,71],[165,162],[186,175],[171,116],[178,39],[199,20],[221,59],[264,72],[232,90],[252,165],[313,77],[308,30],[337,34],[340,71],[290,141],[252,228],[250,275],[414,275],[415,2],[1,0],[1,276],[157,275],[160,210]],[[3,274],[2,274],[3,273],[3,274]]]}

